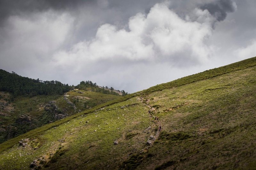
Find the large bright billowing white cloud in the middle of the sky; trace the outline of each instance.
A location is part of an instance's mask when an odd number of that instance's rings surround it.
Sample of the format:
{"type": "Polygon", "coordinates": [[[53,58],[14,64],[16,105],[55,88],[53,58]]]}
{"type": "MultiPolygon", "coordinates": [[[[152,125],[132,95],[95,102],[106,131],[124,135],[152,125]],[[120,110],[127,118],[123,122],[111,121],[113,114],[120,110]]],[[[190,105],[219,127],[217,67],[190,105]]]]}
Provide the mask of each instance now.
{"type": "MultiPolygon", "coordinates": [[[[129,19],[129,31],[104,24],[95,37],[55,53],[54,64],[86,65],[98,60],[156,61],[165,58],[207,60],[211,48],[205,39],[212,34],[215,21],[207,10],[195,9],[186,19],[180,18],[166,4],[154,5],[148,15],[138,13],[129,19]]],[[[165,61],[164,61],[165,62],[165,61]]],[[[76,67],[76,69],[78,69],[76,67]]]]}

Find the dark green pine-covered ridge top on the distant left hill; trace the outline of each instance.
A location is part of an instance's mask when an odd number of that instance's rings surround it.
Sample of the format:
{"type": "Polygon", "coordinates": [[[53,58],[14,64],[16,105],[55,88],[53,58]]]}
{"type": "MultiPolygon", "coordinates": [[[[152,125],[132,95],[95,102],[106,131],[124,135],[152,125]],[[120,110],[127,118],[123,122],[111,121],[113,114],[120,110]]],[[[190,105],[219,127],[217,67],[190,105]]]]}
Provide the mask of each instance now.
{"type": "Polygon", "coordinates": [[[0,69],[0,91],[11,92],[14,98],[20,95],[29,95],[30,97],[36,95],[63,95],[72,88],[116,96],[127,95],[124,90],[119,91],[112,87],[109,89],[107,86],[101,88],[96,83],[92,83],[92,81],[81,81],[77,86],[69,86],[68,84],[62,84],[60,81],[35,80],[0,69]]]}

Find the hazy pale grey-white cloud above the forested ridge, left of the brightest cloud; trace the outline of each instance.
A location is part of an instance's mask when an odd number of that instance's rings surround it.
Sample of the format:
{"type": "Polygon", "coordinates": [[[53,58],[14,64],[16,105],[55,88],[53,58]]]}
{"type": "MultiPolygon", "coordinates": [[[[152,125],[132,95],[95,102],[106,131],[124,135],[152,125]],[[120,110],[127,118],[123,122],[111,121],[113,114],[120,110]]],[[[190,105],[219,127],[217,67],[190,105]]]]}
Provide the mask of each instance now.
{"type": "Polygon", "coordinates": [[[30,17],[10,16],[2,32],[6,41],[0,43],[1,56],[8,56],[5,64],[17,69],[48,60],[66,41],[73,21],[69,14],[52,10],[30,17]]]}

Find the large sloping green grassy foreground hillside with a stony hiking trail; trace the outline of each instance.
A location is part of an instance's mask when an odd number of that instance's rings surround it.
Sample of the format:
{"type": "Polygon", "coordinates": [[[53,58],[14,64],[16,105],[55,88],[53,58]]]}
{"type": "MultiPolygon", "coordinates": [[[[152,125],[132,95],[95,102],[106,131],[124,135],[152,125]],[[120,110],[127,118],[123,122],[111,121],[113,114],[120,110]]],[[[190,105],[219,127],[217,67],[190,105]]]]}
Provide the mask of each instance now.
{"type": "Polygon", "coordinates": [[[0,144],[0,169],[254,169],[255,73],[256,57],[97,105],[0,144]]]}

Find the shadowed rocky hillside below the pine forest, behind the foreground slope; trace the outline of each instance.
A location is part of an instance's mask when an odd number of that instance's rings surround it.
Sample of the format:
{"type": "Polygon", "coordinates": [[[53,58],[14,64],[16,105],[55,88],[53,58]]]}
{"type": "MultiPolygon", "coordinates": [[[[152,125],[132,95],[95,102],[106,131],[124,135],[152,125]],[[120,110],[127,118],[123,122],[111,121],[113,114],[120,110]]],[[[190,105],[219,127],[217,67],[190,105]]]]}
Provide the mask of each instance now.
{"type": "Polygon", "coordinates": [[[0,143],[119,96],[72,90],[65,95],[18,96],[0,92],[0,143]]]}

